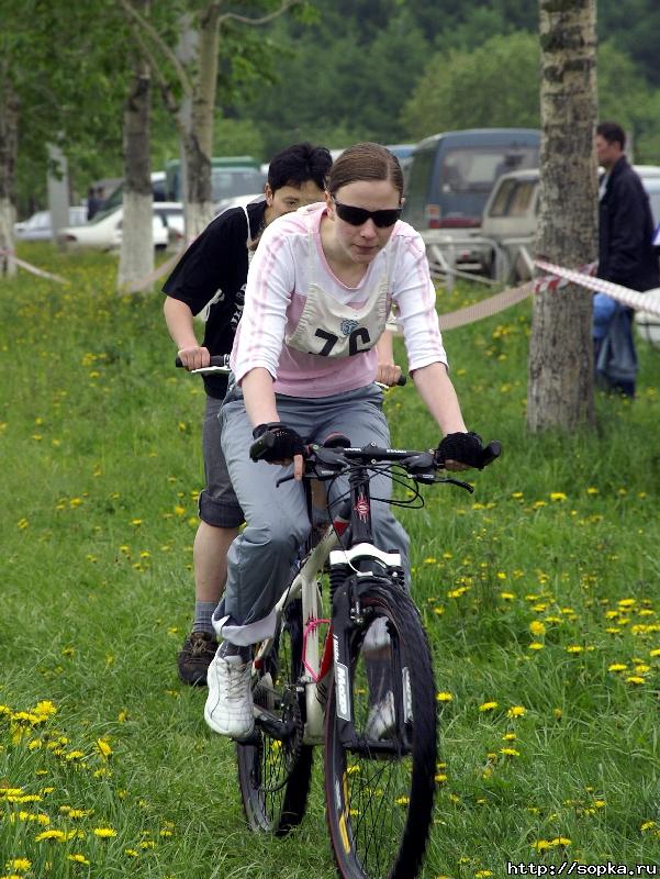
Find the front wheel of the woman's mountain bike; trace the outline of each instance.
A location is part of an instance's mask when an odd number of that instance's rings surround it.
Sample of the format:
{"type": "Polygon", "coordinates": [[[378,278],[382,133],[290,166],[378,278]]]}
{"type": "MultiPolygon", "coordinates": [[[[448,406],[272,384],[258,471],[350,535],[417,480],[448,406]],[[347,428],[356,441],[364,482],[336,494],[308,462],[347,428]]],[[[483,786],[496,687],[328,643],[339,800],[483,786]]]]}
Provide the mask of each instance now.
{"type": "Polygon", "coordinates": [[[383,620],[376,625],[381,630],[384,625],[390,638],[384,653],[381,644],[379,658],[373,642],[366,643],[365,626],[349,635],[351,711],[359,747],[347,748],[340,742],[335,683],[331,690],[325,727],[331,842],[343,879],[412,879],[433,822],[437,712],[430,653],[417,609],[400,587],[374,582],[361,592],[360,602],[362,612],[372,617],[369,631],[376,620],[383,620]],[[393,750],[378,754],[373,719],[377,706],[387,704],[382,698],[387,674],[391,692],[398,693],[392,697],[395,724],[379,737],[384,734],[393,750]]]}

